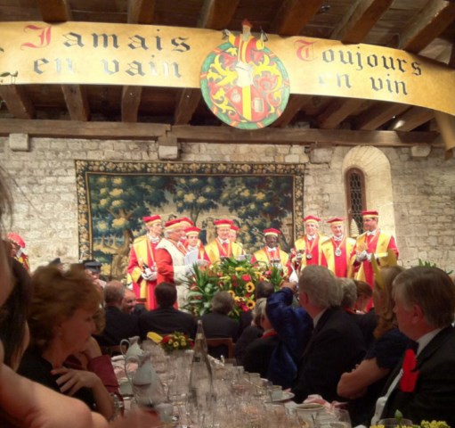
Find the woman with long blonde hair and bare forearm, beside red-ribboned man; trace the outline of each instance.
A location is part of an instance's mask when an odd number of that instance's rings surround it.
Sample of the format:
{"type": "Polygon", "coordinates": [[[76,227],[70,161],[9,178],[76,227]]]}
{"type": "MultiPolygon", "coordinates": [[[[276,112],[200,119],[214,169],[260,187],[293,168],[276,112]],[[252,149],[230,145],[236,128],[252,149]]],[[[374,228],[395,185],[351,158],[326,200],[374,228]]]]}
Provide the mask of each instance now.
{"type": "MultiPolygon", "coordinates": [[[[394,317],[392,283],[404,269],[399,266],[382,268],[380,278],[375,277],[373,302],[378,314],[378,327],[375,341],[362,363],[352,372],[345,373],[337,386],[341,397],[357,399],[352,407],[351,418],[354,424],[367,423],[368,416],[387,380],[388,374],[401,361],[409,339],[401,333],[394,317]]],[[[365,317],[361,315],[360,317],[365,317]]]]}

